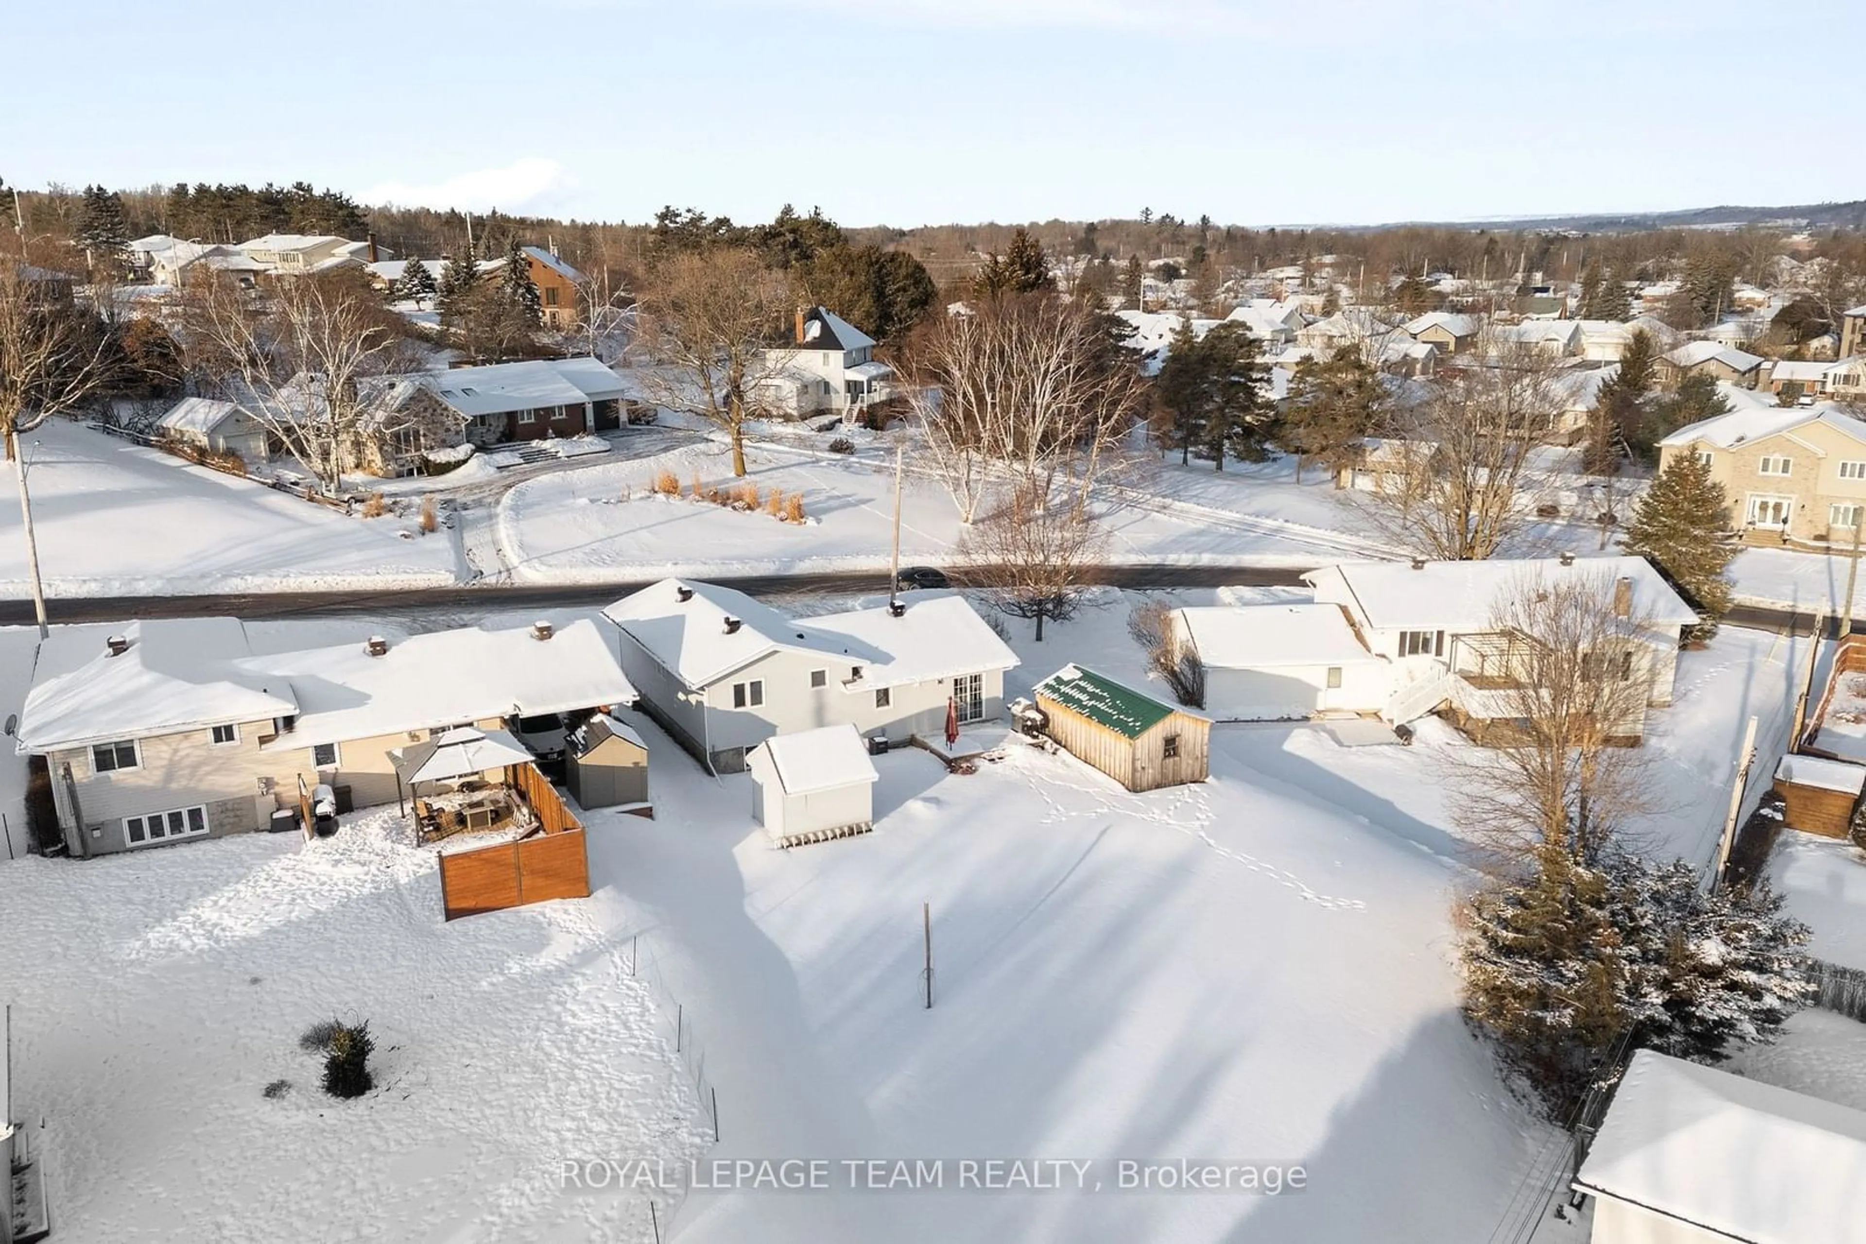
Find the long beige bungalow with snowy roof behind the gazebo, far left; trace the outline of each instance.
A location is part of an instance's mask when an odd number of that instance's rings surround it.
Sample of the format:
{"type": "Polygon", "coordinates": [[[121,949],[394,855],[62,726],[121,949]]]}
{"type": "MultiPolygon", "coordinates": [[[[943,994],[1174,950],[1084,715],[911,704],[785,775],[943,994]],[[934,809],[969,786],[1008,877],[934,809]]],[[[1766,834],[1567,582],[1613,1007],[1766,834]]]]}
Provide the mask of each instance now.
{"type": "Polygon", "coordinates": [[[631,703],[593,621],[254,655],[233,617],[39,643],[15,750],[73,856],[267,828],[304,787],[396,802],[396,753],[453,726],[631,703]]]}

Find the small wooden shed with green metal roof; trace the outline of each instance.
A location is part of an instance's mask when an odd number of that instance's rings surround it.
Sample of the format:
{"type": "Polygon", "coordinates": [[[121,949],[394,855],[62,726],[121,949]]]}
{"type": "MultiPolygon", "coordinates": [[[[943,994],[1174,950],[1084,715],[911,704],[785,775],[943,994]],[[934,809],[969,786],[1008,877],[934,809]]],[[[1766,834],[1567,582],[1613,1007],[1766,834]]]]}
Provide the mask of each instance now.
{"type": "Polygon", "coordinates": [[[1211,722],[1114,679],[1064,666],[1036,686],[1045,733],[1129,791],[1204,781],[1211,722]]]}

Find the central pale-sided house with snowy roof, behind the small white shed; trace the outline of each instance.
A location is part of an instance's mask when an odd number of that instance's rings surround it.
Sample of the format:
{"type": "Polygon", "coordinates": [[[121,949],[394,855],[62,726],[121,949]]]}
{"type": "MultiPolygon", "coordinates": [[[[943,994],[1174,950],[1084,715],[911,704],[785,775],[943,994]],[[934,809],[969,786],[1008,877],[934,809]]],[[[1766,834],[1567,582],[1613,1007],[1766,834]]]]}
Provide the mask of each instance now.
{"type": "Polygon", "coordinates": [[[773,735],[855,726],[905,742],[996,716],[1017,657],[963,597],[791,619],[743,591],[664,578],[603,610],[642,707],[715,772],[773,735]]]}

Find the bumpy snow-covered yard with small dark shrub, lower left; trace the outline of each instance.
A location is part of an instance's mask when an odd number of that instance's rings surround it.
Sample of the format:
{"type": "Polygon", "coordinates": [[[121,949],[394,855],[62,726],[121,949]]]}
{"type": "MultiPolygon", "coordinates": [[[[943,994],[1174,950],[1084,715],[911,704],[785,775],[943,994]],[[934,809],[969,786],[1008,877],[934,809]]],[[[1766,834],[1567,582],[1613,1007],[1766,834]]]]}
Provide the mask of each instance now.
{"type": "Polygon", "coordinates": [[[317,843],[0,864],[0,895],[15,1100],[49,1121],[62,1244],[648,1240],[640,1201],[565,1197],[558,1164],[700,1151],[627,944],[580,903],[442,923],[394,809],[317,843]],[[377,1041],[353,1102],[299,1048],[332,1016],[377,1041]]]}

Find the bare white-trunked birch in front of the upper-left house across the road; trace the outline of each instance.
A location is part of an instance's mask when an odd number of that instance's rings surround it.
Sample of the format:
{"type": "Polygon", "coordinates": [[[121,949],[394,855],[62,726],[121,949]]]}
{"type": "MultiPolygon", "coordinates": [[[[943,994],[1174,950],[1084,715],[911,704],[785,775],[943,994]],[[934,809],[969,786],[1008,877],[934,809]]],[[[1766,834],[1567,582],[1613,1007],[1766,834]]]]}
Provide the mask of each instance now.
{"type": "Polygon", "coordinates": [[[215,274],[183,295],[183,325],[190,367],[239,397],[325,492],[371,457],[366,440],[397,435],[368,380],[420,358],[362,280],[289,276],[250,291],[215,274]]]}

